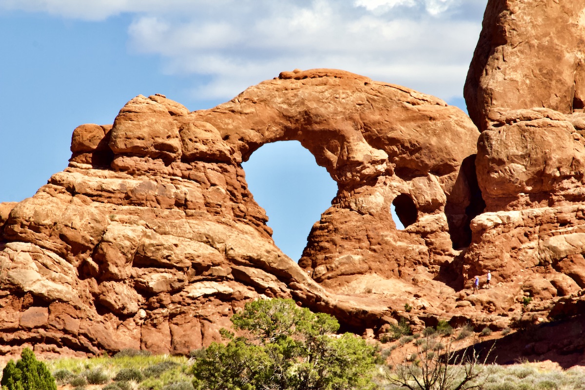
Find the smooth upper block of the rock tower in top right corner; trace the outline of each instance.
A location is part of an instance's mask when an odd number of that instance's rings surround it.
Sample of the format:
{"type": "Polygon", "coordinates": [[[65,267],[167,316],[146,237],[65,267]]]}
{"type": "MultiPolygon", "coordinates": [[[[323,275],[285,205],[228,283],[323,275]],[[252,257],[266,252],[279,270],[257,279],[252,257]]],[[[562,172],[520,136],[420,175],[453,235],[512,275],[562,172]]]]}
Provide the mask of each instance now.
{"type": "Polygon", "coordinates": [[[489,0],[467,73],[469,116],[485,130],[511,109],[585,107],[585,4],[489,0]]]}

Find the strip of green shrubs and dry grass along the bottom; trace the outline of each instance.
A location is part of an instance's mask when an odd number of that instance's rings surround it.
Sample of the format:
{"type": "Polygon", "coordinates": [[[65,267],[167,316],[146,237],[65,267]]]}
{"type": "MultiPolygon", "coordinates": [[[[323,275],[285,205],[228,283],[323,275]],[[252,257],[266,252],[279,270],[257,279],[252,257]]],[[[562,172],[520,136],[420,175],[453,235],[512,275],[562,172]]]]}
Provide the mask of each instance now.
{"type": "Polygon", "coordinates": [[[336,334],[335,318],[285,299],[250,302],[232,323],[239,336],[224,330],[224,343],[190,356],[127,349],[43,363],[25,348],[4,368],[2,390],[585,390],[581,367],[486,364],[492,351],[473,346],[489,332],[470,326],[440,321],[413,334],[403,320],[384,343],[366,342],[336,334]]]}

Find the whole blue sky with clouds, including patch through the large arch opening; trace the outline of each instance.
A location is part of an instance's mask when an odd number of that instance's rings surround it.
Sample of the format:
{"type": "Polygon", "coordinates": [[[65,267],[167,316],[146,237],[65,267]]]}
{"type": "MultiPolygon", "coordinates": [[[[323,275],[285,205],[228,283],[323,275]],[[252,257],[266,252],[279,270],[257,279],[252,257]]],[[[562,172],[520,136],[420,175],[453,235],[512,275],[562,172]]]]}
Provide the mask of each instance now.
{"type": "MultiPolygon", "coordinates": [[[[0,202],[34,195],[67,166],[75,127],[112,123],[139,94],[205,109],[281,71],[327,67],[464,109],[486,3],[0,0],[0,202]]],[[[244,167],[277,245],[298,260],[335,183],[295,142],[244,167]]]]}

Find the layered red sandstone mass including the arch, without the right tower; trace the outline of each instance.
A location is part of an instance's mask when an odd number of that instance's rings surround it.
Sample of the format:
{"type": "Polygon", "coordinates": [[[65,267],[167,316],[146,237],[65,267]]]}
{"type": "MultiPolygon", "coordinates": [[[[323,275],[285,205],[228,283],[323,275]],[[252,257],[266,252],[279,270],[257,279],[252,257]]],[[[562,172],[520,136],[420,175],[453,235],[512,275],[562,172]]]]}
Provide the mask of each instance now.
{"type": "Polygon", "coordinates": [[[137,96],[113,126],[75,129],[69,167],[35,196],[2,203],[0,352],[187,353],[271,296],[383,329],[413,278],[444,285],[432,279],[459,253],[449,223],[455,236],[469,225],[459,168],[478,135],[440,99],[344,71],[283,73],[196,112],[137,96]],[[241,167],[279,140],[339,185],[300,265],[274,245],[241,167]]]}

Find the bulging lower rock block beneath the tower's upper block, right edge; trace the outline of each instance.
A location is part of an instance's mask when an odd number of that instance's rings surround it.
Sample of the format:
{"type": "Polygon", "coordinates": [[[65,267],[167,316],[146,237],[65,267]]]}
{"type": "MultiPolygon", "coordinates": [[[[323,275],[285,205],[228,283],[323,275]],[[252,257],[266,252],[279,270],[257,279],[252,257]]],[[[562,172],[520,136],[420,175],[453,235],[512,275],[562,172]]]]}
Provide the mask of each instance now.
{"type": "Polygon", "coordinates": [[[487,212],[472,221],[471,275],[491,270],[543,300],[585,287],[582,115],[510,111],[481,133],[477,180],[487,212]]]}

